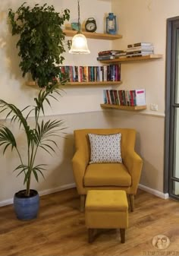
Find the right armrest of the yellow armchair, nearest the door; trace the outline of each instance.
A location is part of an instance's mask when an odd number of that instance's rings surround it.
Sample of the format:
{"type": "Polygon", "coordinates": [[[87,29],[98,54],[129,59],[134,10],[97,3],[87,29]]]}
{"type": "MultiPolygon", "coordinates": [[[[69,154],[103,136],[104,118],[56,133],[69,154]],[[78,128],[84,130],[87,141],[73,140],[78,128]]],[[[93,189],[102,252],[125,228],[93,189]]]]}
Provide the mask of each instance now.
{"type": "Polygon", "coordinates": [[[127,167],[127,170],[132,177],[130,194],[136,194],[140,182],[143,160],[135,151],[128,151],[126,156],[124,156],[124,166],[127,167]]]}

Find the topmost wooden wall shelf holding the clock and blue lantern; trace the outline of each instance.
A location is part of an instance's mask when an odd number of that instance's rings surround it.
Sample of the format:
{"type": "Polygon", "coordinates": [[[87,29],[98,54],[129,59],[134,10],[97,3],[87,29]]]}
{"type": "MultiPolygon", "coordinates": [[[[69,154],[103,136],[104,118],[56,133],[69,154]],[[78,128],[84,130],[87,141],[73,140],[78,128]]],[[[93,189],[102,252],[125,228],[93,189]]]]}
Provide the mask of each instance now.
{"type": "MultiPolygon", "coordinates": [[[[66,36],[74,36],[77,34],[76,30],[63,30],[66,36]]],[[[82,31],[86,38],[99,39],[99,40],[117,40],[122,38],[121,35],[111,35],[108,33],[95,33],[82,31]]]]}

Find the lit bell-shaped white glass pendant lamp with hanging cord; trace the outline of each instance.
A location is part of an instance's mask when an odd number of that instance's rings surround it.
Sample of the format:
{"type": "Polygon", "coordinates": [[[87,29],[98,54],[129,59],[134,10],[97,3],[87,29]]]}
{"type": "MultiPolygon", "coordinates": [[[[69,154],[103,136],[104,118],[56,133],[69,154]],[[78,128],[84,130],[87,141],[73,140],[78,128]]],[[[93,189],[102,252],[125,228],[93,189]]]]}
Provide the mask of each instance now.
{"type": "Polygon", "coordinates": [[[77,34],[72,38],[71,49],[69,53],[73,54],[89,54],[86,37],[81,32],[80,26],[80,0],[77,0],[78,5],[78,31],[77,34]]]}

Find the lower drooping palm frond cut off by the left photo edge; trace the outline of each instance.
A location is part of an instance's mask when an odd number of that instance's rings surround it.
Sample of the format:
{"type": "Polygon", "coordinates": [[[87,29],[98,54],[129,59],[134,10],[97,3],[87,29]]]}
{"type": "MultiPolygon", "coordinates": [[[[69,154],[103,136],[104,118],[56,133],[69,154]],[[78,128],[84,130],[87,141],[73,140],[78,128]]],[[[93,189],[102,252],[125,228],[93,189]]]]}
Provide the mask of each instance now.
{"type": "Polygon", "coordinates": [[[14,147],[17,147],[14,135],[11,130],[4,125],[0,126],[0,146],[2,145],[5,146],[3,154],[5,153],[5,150],[7,150],[8,146],[11,146],[11,150],[13,150],[14,147]]]}

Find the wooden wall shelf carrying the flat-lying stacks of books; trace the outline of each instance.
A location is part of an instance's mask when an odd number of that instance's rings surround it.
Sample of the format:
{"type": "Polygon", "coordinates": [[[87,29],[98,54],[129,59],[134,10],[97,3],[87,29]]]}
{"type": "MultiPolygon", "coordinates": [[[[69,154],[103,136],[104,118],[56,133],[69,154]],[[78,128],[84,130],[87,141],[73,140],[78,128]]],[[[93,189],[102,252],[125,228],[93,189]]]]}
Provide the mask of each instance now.
{"type": "Polygon", "coordinates": [[[152,59],[157,59],[157,58],[162,58],[162,54],[150,54],[146,56],[139,56],[139,57],[124,57],[124,58],[114,58],[114,59],[108,59],[108,60],[103,60],[99,61],[102,63],[111,63],[111,62],[136,62],[136,61],[148,61],[152,59]]]}

